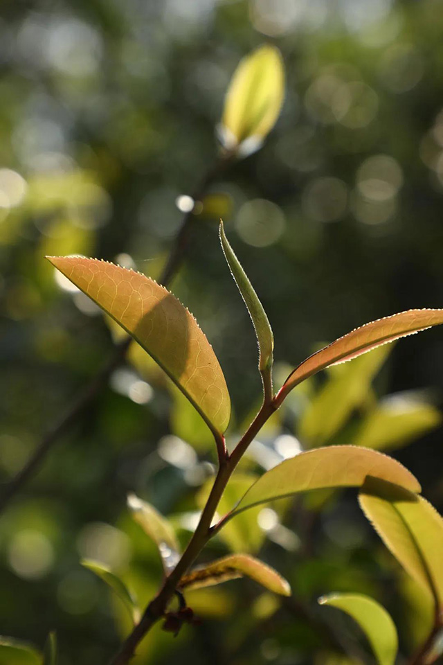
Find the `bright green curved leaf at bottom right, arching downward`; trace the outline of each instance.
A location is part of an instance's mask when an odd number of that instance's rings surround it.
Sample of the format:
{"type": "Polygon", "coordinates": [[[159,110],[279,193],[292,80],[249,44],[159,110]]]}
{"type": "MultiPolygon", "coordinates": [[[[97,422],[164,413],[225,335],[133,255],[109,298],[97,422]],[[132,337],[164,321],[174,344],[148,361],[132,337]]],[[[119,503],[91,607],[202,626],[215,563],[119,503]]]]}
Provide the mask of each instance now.
{"type": "Polygon", "coordinates": [[[394,665],[398,649],[397,630],[390,614],[377,601],[362,594],[330,594],[319,598],[318,602],[349,614],[368,637],[379,664],[394,665]]]}

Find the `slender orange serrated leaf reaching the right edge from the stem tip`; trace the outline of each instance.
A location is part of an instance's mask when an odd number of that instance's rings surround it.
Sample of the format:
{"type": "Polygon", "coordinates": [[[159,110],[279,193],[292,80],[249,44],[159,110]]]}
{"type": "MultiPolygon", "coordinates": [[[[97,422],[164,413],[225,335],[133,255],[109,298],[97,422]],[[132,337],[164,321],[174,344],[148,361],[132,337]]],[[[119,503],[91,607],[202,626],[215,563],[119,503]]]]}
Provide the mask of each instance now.
{"type": "Polygon", "coordinates": [[[399,312],[384,319],[365,323],[361,328],[339,337],[300,363],[284,382],[278,395],[278,403],[282,402],[293,387],[330,365],[353,360],[381,344],[395,342],[395,339],[413,335],[432,326],[439,326],[440,323],[443,323],[443,310],[426,309],[399,312]]]}

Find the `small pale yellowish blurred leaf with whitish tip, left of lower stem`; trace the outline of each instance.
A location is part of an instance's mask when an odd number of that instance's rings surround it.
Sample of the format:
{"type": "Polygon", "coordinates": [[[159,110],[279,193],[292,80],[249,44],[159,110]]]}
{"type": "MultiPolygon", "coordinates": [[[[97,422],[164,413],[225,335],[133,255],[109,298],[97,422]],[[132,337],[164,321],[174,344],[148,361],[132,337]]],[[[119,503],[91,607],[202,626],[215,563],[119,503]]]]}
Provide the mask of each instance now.
{"type": "Polygon", "coordinates": [[[134,520],[140,524],[143,531],[149,535],[159,548],[163,566],[170,570],[179,560],[179,544],[168,520],[159,511],[139,499],[135,494],[129,494],[127,505],[132,512],[134,520]]]}

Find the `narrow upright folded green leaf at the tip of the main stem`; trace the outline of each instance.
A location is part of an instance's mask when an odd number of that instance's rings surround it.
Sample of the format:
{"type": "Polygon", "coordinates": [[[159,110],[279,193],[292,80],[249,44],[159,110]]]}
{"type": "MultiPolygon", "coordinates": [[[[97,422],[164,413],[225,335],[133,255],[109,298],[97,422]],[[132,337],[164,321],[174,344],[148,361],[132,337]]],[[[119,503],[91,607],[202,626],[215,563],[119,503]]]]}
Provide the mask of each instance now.
{"type": "Polygon", "coordinates": [[[226,238],[223,228],[223,222],[220,220],[220,241],[221,247],[224,251],[224,256],[230,267],[230,272],[234,278],[235,283],[237,284],[240,294],[248,308],[249,316],[253,322],[255,328],[255,335],[257,335],[258,342],[258,369],[260,372],[269,371],[273,362],[273,348],[274,348],[274,338],[271,330],[271,324],[269,323],[268,317],[266,317],[266,312],[263,309],[262,303],[258,299],[253,285],[248,280],[246,272],[242,268],[237,256],[235,256],[232,247],[226,238]]]}

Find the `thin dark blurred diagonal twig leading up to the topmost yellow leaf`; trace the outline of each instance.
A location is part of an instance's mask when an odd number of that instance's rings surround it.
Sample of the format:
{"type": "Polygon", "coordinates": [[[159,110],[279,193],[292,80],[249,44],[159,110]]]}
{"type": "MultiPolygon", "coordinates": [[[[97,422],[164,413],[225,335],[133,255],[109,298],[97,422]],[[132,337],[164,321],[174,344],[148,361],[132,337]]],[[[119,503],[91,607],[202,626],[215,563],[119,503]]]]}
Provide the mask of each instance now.
{"type": "MultiPolygon", "coordinates": [[[[218,159],[215,161],[214,166],[212,166],[204,175],[199,186],[196,188],[192,198],[195,201],[203,198],[208,190],[208,186],[221,174],[226,165],[229,163],[231,155],[224,153],[221,154],[218,159]]],[[[177,274],[179,267],[183,263],[183,259],[186,255],[186,248],[188,246],[188,240],[190,237],[190,231],[192,229],[192,222],[194,221],[194,215],[192,211],[189,211],[184,215],[183,221],[177,238],[175,239],[174,245],[171,249],[170,256],[166,262],[166,265],[163,269],[163,273],[159,278],[159,283],[163,286],[170,285],[172,279],[177,274]]],[[[100,395],[102,390],[107,385],[110,375],[114,370],[123,363],[127,355],[128,348],[132,342],[131,337],[127,337],[123,342],[120,342],[116,345],[114,354],[107,364],[102,368],[102,370],[93,377],[90,384],[80,393],[80,396],[75,399],[72,405],[67,409],[64,416],[62,416],[57,423],[49,429],[46,435],[42,438],[42,441],[37,445],[35,451],[30,456],[24,467],[18,472],[18,474],[10,481],[6,486],[3,494],[0,497],[0,514],[8,506],[9,502],[24,485],[30,480],[35,473],[39,470],[40,466],[46,459],[48,453],[53,449],[55,443],[60,440],[60,438],[69,432],[71,427],[78,423],[78,419],[84,411],[87,410],[89,405],[100,395]]]]}

